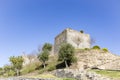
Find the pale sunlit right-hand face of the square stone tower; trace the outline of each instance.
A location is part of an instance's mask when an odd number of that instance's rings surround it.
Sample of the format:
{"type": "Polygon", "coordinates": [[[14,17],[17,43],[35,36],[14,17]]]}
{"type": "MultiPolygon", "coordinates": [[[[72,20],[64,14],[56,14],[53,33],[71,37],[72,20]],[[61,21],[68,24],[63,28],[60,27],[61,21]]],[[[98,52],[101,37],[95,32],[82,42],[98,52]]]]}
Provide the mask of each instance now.
{"type": "Polygon", "coordinates": [[[90,48],[89,34],[80,33],[78,31],[67,30],[67,42],[72,44],[76,49],[90,48]]]}

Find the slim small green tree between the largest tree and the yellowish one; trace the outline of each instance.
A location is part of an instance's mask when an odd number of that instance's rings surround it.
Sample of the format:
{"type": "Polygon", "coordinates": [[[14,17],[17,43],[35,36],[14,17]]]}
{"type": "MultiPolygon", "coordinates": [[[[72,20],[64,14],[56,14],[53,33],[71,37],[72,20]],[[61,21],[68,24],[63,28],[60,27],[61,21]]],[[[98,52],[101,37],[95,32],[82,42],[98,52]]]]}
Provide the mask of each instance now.
{"type": "Polygon", "coordinates": [[[48,61],[48,59],[49,59],[49,52],[48,52],[48,50],[42,51],[42,52],[38,55],[38,59],[39,59],[40,61],[42,61],[42,64],[43,64],[43,66],[44,66],[44,68],[45,68],[46,61],[48,61]]]}

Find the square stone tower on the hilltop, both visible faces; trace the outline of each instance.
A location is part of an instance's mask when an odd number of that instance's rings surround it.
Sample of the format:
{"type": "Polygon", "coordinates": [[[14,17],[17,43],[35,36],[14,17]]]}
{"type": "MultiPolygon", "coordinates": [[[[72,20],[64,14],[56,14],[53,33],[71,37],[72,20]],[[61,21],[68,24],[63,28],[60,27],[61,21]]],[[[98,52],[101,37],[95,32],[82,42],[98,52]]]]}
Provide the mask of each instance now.
{"type": "Polygon", "coordinates": [[[67,28],[55,37],[55,54],[58,53],[62,43],[70,43],[75,49],[90,48],[90,35],[67,28]]]}

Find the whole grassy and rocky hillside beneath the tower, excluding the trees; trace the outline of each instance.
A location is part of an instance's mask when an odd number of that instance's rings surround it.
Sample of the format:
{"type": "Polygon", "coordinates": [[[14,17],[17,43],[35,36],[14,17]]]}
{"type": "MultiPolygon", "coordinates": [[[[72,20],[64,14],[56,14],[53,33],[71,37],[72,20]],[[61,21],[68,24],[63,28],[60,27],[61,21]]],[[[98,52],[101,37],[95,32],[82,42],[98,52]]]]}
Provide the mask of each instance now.
{"type": "Polygon", "coordinates": [[[49,60],[46,63],[47,66],[45,69],[41,66],[41,62],[36,61],[36,57],[32,57],[33,61],[31,60],[30,64],[22,68],[21,77],[59,79],[59,76],[64,74],[64,76],[60,77],[61,80],[63,80],[63,78],[65,78],[66,76],[67,78],[82,78],[81,80],[84,80],[84,77],[87,78],[86,80],[89,80],[90,77],[92,77],[91,80],[103,80],[103,78],[107,80],[120,79],[120,56],[98,49],[77,49],[75,51],[75,56],[77,57],[77,63],[73,63],[68,70],[66,70],[63,62],[58,61],[57,55],[50,55],[49,60]],[[94,68],[95,70],[90,70],[91,68],[94,68]],[[72,70],[72,74],[69,70],[72,70]],[[97,74],[92,73],[91,71],[96,72],[97,74]],[[58,73],[57,76],[54,75],[56,73],[58,73]],[[99,74],[102,76],[100,76],[99,74]]]}

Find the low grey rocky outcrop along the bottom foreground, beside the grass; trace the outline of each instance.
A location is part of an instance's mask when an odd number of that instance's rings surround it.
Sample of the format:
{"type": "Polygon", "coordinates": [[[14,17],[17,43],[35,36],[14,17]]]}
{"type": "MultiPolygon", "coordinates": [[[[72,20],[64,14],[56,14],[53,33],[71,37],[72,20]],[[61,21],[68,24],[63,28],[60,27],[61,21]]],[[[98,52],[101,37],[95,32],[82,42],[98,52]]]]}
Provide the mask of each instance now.
{"type": "Polygon", "coordinates": [[[93,72],[87,72],[85,70],[73,70],[73,69],[59,69],[55,71],[55,76],[62,78],[74,78],[77,80],[111,80],[110,78],[102,77],[93,72]]]}

